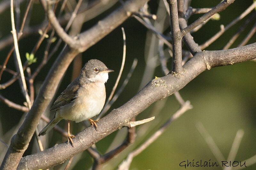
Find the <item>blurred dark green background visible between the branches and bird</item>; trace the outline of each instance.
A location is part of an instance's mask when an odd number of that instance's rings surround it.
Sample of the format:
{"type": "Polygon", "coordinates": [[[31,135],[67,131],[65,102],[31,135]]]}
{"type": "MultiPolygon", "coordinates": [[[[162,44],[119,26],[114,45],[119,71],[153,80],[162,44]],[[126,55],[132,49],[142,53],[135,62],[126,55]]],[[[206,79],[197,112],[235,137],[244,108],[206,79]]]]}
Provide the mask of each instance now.
{"type": "MultiPolygon", "coordinates": [[[[191,6],[193,8],[213,7],[216,6],[219,2],[219,0],[192,0],[191,6]]],[[[157,0],[151,0],[148,3],[149,9],[152,13],[156,13],[159,3],[160,1],[157,0]]],[[[220,20],[211,20],[199,31],[192,34],[195,42],[199,45],[204,43],[206,40],[211,38],[215,33],[220,30],[221,24],[226,26],[233,19],[235,19],[242,12],[244,12],[251,4],[252,0],[236,0],[225,11],[220,12],[220,20]]],[[[110,8],[108,11],[102,13],[100,16],[84,23],[82,31],[85,31],[86,29],[93,26],[95,23],[98,22],[99,19],[104,18],[119,5],[120,3],[117,3],[113,8],[110,8]]],[[[21,16],[23,16],[25,8],[26,3],[20,4],[21,16]]],[[[168,14],[166,13],[166,15],[168,14]]],[[[192,15],[191,18],[188,20],[188,24],[192,23],[199,16],[202,16],[202,14],[192,15]]],[[[219,39],[217,39],[205,50],[222,49],[223,46],[231,38],[231,36],[236,32],[238,27],[248,18],[248,16],[232,26],[226,33],[224,33],[219,39]]],[[[41,7],[41,4],[35,1],[33,5],[30,25],[37,25],[41,23],[44,19],[45,14],[41,7]]],[[[10,10],[4,11],[1,14],[0,20],[1,40],[5,36],[11,34],[10,10]]],[[[166,22],[168,22],[168,20],[169,17],[166,17],[166,22]]],[[[245,28],[245,31],[241,33],[241,35],[231,46],[231,48],[235,48],[244,39],[244,36],[250,31],[254,23],[255,21],[251,22],[249,26],[245,28]]],[[[117,78],[122,63],[123,38],[121,27],[124,27],[126,33],[127,49],[124,72],[118,87],[120,87],[127,73],[129,72],[134,58],[138,59],[138,65],[134,70],[134,73],[128,85],[125,87],[124,91],[119,96],[118,100],[110,108],[110,110],[120,107],[140,90],[140,82],[143,74],[147,74],[144,72],[145,54],[148,53],[148,48],[146,48],[145,46],[146,37],[152,33],[149,32],[143,25],[141,25],[135,18],[129,18],[121,26],[117,27],[113,32],[109,33],[97,44],[86,50],[82,54],[82,63],[80,65],[82,66],[89,59],[96,58],[105,63],[108,68],[115,70],[114,73],[109,74],[109,80],[106,84],[108,97],[113,85],[115,84],[115,80],[117,78]]],[[[19,41],[19,49],[22,63],[26,61],[25,53],[30,53],[38,38],[39,34],[32,34],[19,41]]],[[[256,35],[252,37],[248,44],[255,42],[255,40],[256,35]]],[[[46,40],[44,40],[36,53],[37,63],[33,63],[30,66],[32,72],[36,69],[36,67],[42,60],[45,45],[46,40]]],[[[63,45],[64,43],[62,43],[61,48],[63,47],[63,45]]],[[[10,48],[11,46],[8,46],[7,48],[1,50],[1,64],[4,63],[5,57],[8,54],[10,48]]],[[[61,48],[59,48],[58,53],[60,52],[61,48]]],[[[48,73],[48,70],[52,66],[52,63],[58,56],[58,53],[56,53],[49,60],[49,62],[43,67],[39,75],[36,77],[34,83],[36,88],[36,94],[38,93],[38,90],[42,85],[44,78],[48,73]]],[[[168,53],[166,53],[166,55],[168,55],[168,53]]],[[[170,70],[171,64],[171,59],[168,59],[167,66],[170,70]]],[[[155,76],[164,76],[158,61],[156,65],[157,66],[154,75],[150,77],[147,82],[155,76]]],[[[204,71],[198,77],[188,83],[188,85],[180,90],[180,94],[184,100],[189,100],[191,102],[191,104],[193,105],[193,109],[188,110],[184,115],[175,120],[153,144],[151,144],[140,155],[135,157],[132,161],[130,169],[184,169],[184,167],[179,166],[180,162],[187,160],[192,162],[193,159],[195,162],[200,160],[209,161],[209,159],[211,159],[211,162],[217,162],[214,154],[212,153],[204,138],[200,135],[199,131],[196,128],[199,125],[204,126],[206,131],[209,133],[216,145],[219,147],[225,159],[227,159],[228,157],[237,131],[239,129],[242,129],[244,131],[244,136],[242,138],[235,160],[244,161],[245,159],[249,159],[254,156],[256,154],[255,65],[255,62],[248,61],[230,66],[212,68],[211,70],[204,71]]],[[[74,65],[71,64],[68,68],[60,84],[60,87],[56,92],[57,95],[59,95],[60,92],[62,92],[71,82],[71,73],[73,67],[74,65]]],[[[13,56],[11,56],[7,64],[7,68],[15,70],[13,56]]],[[[11,77],[11,74],[4,72],[0,83],[3,84],[11,77]]],[[[146,83],[144,83],[143,86],[144,85],[146,85],[146,83]]],[[[25,101],[24,97],[21,94],[18,81],[16,81],[8,88],[1,90],[0,94],[20,105],[23,105],[23,102],[25,101]]],[[[55,96],[54,99],[56,99],[56,97],[57,96],[55,96]]],[[[149,129],[147,132],[145,132],[146,138],[150,137],[180,107],[179,103],[172,95],[164,100],[152,104],[140,115],[138,115],[136,119],[141,120],[150,117],[150,115],[155,115],[154,113],[152,113],[152,111],[161,102],[165,102],[163,109],[160,110],[160,114],[156,116],[156,119],[150,122],[151,124],[156,124],[156,127],[153,129],[149,129]]],[[[19,123],[22,115],[22,112],[10,108],[6,106],[3,102],[0,102],[1,140],[5,141],[5,139],[2,137],[8,136],[7,133],[10,133],[9,130],[19,123]]],[[[50,115],[47,116],[51,118],[52,115],[53,113],[50,113],[50,115]]],[[[67,123],[63,120],[58,125],[64,128],[67,123]]],[[[76,134],[85,127],[83,123],[72,123],[71,128],[72,133],[76,134]]],[[[98,150],[102,154],[108,150],[108,147],[112,143],[115,136],[119,135],[117,133],[120,132],[114,132],[96,144],[98,150]]],[[[126,133],[125,129],[122,130],[122,133],[126,133]]],[[[50,144],[47,147],[51,147],[56,143],[62,143],[66,141],[65,138],[62,138],[60,134],[53,130],[51,132],[51,136],[52,138],[50,138],[50,144]]],[[[142,144],[142,142],[145,141],[146,138],[141,139],[132,147],[136,148],[137,146],[142,144]]],[[[28,151],[25,152],[24,156],[32,154],[34,152],[38,152],[38,148],[36,148],[36,145],[34,143],[35,137],[33,137],[32,141],[30,142],[28,151]]],[[[4,147],[4,144],[0,143],[0,148],[4,147]]],[[[125,158],[125,153],[128,153],[129,151],[131,151],[131,149],[129,150],[129,148],[127,148],[122,154],[111,160],[108,165],[104,166],[104,169],[115,169],[117,165],[125,158]]],[[[78,160],[74,161],[70,169],[89,169],[92,166],[92,158],[86,151],[75,156],[75,158],[76,157],[78,157],[78,160]]],[[[60,166],[54,167],[54,169],[59,168],[60,166]]],[[[221,166],[214,168],[201,167],[201,169],[202,168],[221,169],[221,166]]],[[[187,169],[197,168],[188,167],[187,169]]],[[[247,167],[246,169],[256,169],[256,165],[254,164],[247,167]]]]}

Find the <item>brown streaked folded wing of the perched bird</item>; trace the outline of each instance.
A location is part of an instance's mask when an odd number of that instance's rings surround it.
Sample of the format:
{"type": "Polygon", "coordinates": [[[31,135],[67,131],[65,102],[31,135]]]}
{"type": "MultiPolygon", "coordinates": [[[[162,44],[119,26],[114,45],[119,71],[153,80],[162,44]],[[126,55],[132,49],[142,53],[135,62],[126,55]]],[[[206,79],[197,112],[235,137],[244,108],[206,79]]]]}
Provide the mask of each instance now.
{"type": "Polygon", "coordinates": [[[80,84],[74,80],[68,87],[60,94],[51,107],[51,110],[57,110],[62,106],[68,105],[77,98],[77,91],[80,84]]]}

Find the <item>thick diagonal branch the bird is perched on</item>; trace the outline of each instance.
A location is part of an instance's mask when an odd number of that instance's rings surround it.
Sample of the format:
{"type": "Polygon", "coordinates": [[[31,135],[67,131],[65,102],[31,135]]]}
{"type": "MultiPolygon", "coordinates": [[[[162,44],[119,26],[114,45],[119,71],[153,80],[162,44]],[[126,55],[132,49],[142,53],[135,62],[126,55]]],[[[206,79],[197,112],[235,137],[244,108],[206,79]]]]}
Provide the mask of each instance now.
{"type": "Polygon", "coordinates": [[[45,151],[28,155],[21,159],[18,169],[47,169],[64,162],[122,128],[127,121],[156,100],[164,99],[179,91],[204,70],[254,58],[256,58],[256,43],[228,50],[198,52],[184,65],[185,71],[182,76],[176,77],[168,74],[162,78],[151,80],[123,106],[112,110],[107,116],[103,117],[98,124],[98,131],[89,127],[78,133],[76,138],[73,139],[74,148],[67,143],[62,143],[45,151]]]}

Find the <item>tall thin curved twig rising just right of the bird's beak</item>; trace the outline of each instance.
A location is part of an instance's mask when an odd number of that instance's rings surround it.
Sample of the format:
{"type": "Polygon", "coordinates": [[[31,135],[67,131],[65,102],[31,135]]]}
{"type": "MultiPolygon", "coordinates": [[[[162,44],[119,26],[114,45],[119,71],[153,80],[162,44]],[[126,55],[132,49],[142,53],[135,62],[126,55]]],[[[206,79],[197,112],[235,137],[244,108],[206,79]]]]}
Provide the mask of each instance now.
{"type": "Polygon", "coordinates": [[[105,105],[104,105],[102,111],[100,112],[100,114],[99,114],[97,120],[98,120],[103,114],[105,114],[105,113],[107,112],[106,106],[108,105],[108,103],[109,103],[110,100],[112,99],[112,97],[113,97],[113,95],[114,95],[114,93],[115,93],[115,91],[116,91],[116,87],[117,87],[117,85],[118,85],[118,83],[119,83],[119,80],[120,80],[120,78],[121,78],[122,72],[123,72],[123,70],[124,70],[125,54],[126,54],[126,38],[125,38],[125,32],[124,32],[124,28],[123,28],[123,27],[122,27],[122,33],[123,33],[123,40],[124,40],[124,49],[123,49],[123,60],[122,60],[121,68],[120,68],[119,74],[118,74],[118,76],[117,76],[116,83],[115,83],[114,87],[112,88],[112,91],[111,91],[111,93],[110,93],[110,95],[109,95],[109,97],[108,97],[108,100],[107,100],[107,102],[105,103],[105,105]]]}

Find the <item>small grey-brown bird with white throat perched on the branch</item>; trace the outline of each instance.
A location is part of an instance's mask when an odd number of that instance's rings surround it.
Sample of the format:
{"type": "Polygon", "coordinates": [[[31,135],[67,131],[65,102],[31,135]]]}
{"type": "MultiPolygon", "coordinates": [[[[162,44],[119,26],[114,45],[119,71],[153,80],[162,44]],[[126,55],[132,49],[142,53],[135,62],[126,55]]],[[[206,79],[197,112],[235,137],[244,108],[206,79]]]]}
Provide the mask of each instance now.
{"type": "Polygon", "coordinates": [[[70,140],[74,147],[69,133],[69,121],[82,122],[89,120],[91,125],[96,121],[90,119],[102,110],[106,100],[105,83],[108,80],[108,73],[114,70],[108,69],[99,60],[91,59],[85,63],[80,75],[68,85],[60,94],[51,107],[55,110],[52,120],[41,130],[38,136],[48,133],[60,120],[68,120],[68,142],[70,140]]]}

